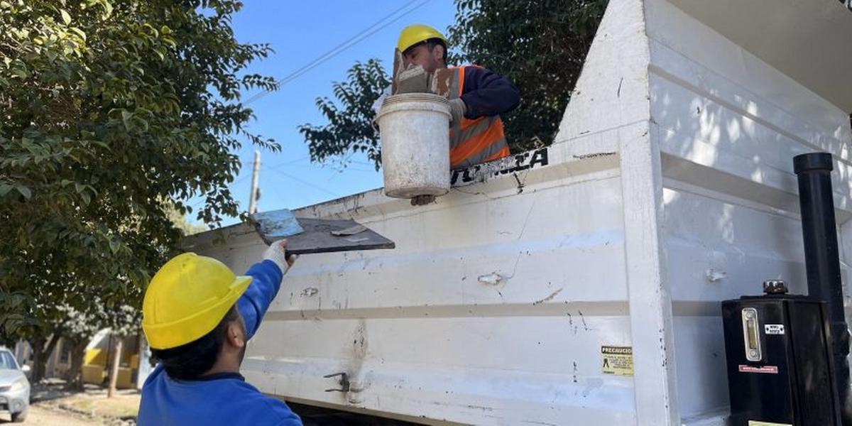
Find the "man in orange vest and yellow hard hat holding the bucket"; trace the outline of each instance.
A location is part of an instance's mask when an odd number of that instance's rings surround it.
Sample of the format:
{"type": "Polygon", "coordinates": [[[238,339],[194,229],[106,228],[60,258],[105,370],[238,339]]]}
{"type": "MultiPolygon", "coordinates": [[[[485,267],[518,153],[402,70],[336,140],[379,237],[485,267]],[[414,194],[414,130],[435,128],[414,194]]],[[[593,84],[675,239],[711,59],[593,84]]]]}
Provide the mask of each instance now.
{"type": "MultiPolygon", "coordinates": [[[[446,37],[431,26],[406,26],[397,49],[406,65],[423,66],[429,74],[446,66],[446,37]]],[[[449,85],[450,168],[460,169],[509,156],[509,146],[499,114],[518,106],[521,96],[507,78],[481,66],[454,66],[449,85]]],[[[435,201],[431,195],[412,199],[423,205],[435,201]]]]}

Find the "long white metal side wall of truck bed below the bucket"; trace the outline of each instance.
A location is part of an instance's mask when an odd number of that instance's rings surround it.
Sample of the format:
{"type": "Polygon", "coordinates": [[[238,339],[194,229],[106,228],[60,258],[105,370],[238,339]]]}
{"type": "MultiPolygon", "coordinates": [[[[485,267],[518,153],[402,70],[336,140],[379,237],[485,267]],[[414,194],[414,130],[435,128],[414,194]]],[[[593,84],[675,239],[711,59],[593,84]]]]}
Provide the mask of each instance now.
{"type": "MultiPolygon", "coordinates": [[[[366,193],[366,208],[296,211],[352,216],[397,249],[302,256],[245,376],[289,399],[431,421],[635,423],[632,379],[600,366],[602,345],[630,346],[618,158],[568,148],[549,150],[561,164],[458,187],[423,209],[366,193]],[[354,390],[326,393],[336,383],[323,376],[341,371],[354,390]]],[[[247,268],[262,243],[233,231],[194,250],[247,268]]]]}

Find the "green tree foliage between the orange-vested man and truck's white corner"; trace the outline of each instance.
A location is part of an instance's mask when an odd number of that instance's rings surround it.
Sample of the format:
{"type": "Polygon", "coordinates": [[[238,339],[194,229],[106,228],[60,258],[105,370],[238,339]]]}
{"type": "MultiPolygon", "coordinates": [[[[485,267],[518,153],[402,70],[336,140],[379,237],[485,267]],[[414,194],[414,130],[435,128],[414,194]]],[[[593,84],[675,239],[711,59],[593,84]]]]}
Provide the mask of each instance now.
{"type": "Polygon", "coordinates": [[[451,60],[509,78],[521,104],[503,117],[514,152],[550,145],[607,0],[457,0],[451,60]]]}

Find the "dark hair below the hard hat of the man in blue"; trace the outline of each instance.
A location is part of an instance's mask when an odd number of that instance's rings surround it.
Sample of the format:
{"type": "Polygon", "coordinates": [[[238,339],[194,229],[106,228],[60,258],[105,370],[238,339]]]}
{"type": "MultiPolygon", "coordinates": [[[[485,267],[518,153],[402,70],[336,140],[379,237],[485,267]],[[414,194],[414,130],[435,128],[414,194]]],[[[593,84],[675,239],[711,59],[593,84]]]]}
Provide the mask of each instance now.
{"type": "Polygon", "coordinates": [[[151,354],[157,358],[169,377],[177,380],[193,380],[213,368],[222,344],[225,342],[225,329],[231,321],[238,320],[236,305],[232,306],[209,333],[198,340],[168,349],[151,349],[151,354]]]}

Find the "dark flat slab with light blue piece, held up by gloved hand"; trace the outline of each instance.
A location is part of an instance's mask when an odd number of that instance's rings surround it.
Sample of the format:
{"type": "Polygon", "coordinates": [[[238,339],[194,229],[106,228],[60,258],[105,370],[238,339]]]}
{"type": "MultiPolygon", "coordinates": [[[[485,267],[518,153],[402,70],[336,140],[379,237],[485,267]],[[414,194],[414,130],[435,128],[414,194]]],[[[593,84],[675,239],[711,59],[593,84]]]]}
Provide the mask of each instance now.
{"type": "Polygon", "coordinates": [[[250,216],[267,245],[287,239],[287,253],[304,255],[333,251],[393,249],[394,242],[351,219],[296,218],[291,210],[273,210],[250,216]]]}

